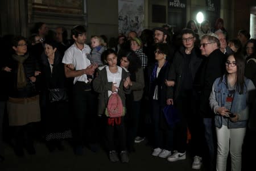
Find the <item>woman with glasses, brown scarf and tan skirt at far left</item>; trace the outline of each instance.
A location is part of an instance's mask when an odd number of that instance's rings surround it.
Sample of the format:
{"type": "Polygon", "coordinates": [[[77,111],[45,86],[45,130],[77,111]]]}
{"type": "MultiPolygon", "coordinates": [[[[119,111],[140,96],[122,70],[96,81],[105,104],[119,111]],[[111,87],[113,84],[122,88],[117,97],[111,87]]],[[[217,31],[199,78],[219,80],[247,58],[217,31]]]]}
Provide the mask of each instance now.
{"type": "Polygon", "coordinates": [[[25,37],[17,36],[13,40],[14,54],[7,65],[9,72],[9,99],[7,112],[9,115],[9,126],[14,130],[14,152],[23,156],[23,147],[29,154],[35,154],[32,139],[34,122],[39,122],[40,107],[39,95],[35,89],[36,61],[27,53],[27,40],[25,37]]]}

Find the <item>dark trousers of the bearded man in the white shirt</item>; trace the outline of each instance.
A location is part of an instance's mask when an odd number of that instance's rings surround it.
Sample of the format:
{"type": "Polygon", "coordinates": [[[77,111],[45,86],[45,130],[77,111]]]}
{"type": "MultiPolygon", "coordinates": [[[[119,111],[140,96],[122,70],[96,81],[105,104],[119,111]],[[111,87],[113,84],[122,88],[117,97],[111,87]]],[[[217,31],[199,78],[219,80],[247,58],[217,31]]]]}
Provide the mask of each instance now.
{"type": "Polygon", "coordinates": [[[77,81],[73,86],[73,140],[74,144],[96,143],[96,96],[90,85],[77,81]]]}

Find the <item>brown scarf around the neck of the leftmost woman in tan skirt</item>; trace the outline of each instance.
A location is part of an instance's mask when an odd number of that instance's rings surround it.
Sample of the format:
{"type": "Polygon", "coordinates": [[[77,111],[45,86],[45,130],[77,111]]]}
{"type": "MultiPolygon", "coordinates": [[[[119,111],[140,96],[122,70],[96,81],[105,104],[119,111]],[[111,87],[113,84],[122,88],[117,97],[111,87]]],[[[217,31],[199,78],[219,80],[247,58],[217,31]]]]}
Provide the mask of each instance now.
{"type": "Polygon", "coordinates": [[[17,70],[17,88],[22,89],[27,85],[27,78],[24,72],[23,62],[28,58],[28,54],[24,56],[19,56],[14,54],[13,59],[18,61],[18,70],[17,70]]]}

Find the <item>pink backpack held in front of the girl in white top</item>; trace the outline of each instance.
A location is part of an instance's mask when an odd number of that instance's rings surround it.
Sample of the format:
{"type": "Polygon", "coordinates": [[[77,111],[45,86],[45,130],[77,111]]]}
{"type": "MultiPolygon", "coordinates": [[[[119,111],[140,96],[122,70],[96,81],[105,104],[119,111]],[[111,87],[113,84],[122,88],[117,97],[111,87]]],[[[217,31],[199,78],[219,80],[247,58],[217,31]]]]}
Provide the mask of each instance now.
{"type": "Polygon", "coordinates": [[[117,92],[110,95],[105,114],[110,118],[119,118],[123,116],[123,103],[117,92]]]}

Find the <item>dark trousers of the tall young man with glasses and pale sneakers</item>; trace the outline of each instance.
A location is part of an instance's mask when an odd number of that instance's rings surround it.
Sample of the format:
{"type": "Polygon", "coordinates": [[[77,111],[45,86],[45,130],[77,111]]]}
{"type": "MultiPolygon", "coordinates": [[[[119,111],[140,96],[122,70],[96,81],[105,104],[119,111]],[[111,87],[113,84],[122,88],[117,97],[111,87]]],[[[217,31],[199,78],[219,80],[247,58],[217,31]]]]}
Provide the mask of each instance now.
{"type": "Polygon", "coordinates": [[[191,149],[193,156],[202,156],[204,147],[204,124],[198,105],[198,97],[192,95],[192,90],[178,96],[174,102],[180,116],[180,122],[175,126],[175,144],[178,152],[187,149],[187,128],[191,133],[191,149]]]}

